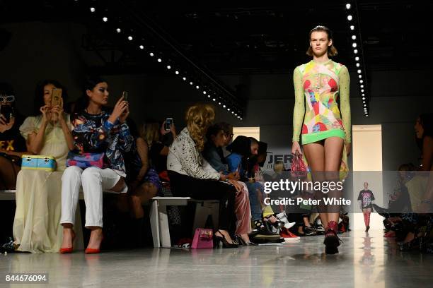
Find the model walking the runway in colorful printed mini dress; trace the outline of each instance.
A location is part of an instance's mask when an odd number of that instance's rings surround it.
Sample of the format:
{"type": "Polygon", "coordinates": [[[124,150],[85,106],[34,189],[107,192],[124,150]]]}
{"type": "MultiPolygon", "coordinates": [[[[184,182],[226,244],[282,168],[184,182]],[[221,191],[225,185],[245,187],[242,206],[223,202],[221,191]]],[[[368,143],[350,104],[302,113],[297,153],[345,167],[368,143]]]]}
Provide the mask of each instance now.
{"type": "MultiPolygon", "coordinates": [[[[310,47],[306,54],[313,59],[294,69],[291,152],[301,153],[301,134],[304,156],[314,181],[338,181],[339,172],[347,172],[347,155],[350,153],[349,71],[346,66],[328,58],[337,54],[333,33],[328,28],[316,26],[308,36],[310,47]],[[337,102],[340,102],[340,108],[337,102]]],[[[328,197],[331,196],[335,196],[335,191],[328,193],[328,197]]],[[[323,227],[326,227],[325,252],[338,253],[339,207],[321,206],[319,212],[323,227]]]]}

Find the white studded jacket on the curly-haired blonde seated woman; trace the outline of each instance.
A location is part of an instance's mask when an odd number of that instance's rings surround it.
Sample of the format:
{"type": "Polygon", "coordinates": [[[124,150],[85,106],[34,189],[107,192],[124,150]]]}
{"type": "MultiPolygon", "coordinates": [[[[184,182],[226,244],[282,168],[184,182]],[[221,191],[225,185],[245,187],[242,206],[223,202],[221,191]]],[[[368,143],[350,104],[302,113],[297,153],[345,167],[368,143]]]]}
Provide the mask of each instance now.
{"type": "Polygon", "coordinates": [[[203,169],[204,160],[197,150],[190,131],[185,127],[170,145],[167,169],[199,179],[219,179],[214,169],[203,169]]]}

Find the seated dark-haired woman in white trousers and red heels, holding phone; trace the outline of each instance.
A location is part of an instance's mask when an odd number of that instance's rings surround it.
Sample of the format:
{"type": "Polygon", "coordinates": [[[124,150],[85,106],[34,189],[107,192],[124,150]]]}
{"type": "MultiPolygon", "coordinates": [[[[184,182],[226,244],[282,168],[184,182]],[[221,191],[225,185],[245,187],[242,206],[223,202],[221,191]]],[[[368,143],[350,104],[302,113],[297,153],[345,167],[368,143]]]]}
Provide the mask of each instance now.
{"type": "Polygon", "coordinates": [[[120,97],[111,113],[107,112],[108,84],[101,78],[88,78],[84,87],[84,109],[74,114],[72,131],[75,147],[80,153],[103,153],[103,167],[81,169],[70,166],[62,176],[63,242],[61,253],[71,253],[74,242],[76,205],[83,187],[86,203],[86,224],[91,229],[85,253],[99,253],[103,240],[103,191],[126,193],[126,169],[122,152],[129,152],[134,139],[129,133],[126,119],[128,102],[120,97]]]}

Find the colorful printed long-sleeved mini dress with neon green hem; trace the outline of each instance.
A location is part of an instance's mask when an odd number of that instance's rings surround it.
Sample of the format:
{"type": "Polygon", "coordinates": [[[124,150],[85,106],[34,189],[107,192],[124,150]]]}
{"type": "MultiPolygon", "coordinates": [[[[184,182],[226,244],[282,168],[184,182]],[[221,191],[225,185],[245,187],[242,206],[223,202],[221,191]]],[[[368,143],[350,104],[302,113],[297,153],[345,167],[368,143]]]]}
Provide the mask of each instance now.
{"type": "MultiPolygon", "coordinates": [[[[294,141],[299,141],[301,134],[303,145],[329,137],[351,142],[350,76],[346,66],[332,60],[311,60],[294,69],[294,88],[294,141]]],[[[346,160],[344,148],[342,166],[346,166],[346,160]]],[[[347,171],[347,167],[341,170],[347,171]]]]}

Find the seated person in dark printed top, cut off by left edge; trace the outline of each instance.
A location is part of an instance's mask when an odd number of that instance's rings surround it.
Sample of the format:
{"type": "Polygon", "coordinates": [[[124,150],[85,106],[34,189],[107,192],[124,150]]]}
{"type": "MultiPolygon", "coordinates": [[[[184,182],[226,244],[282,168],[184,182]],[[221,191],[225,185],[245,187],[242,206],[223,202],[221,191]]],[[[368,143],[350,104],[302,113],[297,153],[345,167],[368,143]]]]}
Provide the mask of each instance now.
{"type": "Polygon", "coordinates": [[[16,97],[8,83],[0,83],[0,190],[15,189],[21,156],[29,154],[19,127],[23,117],[16,109],[16,97]]]}

